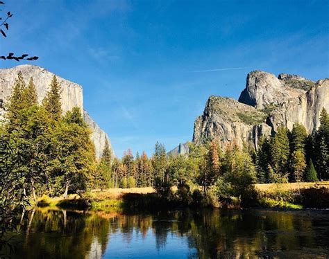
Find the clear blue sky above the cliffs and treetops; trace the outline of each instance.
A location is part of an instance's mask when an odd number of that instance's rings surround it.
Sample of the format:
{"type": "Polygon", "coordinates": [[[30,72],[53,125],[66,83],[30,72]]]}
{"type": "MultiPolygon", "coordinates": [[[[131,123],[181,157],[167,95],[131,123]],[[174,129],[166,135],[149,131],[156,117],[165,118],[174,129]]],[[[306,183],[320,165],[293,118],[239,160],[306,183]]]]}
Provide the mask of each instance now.
{"type": "Polygon", "coordinates": [[[239,98],[250,71],[329,78],[329,1],[5,2],[1,55],[81,84],[118,157],[191,141],[208,97],[239,98]]]}

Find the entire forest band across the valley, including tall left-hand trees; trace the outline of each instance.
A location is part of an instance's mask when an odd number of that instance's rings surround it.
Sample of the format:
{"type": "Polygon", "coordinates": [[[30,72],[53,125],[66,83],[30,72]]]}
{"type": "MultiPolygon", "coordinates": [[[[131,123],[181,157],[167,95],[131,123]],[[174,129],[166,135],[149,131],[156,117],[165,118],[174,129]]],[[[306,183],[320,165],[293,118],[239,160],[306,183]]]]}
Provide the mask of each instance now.
{"type": "Polygon", "coordinates": [[[97,160],[81,110],[62,114],[56,76],[41,104],[37,100],[33,78],[25,80],[19,73],[0,127],[1,225],[42,195],[153,186],[159,196],[169,197],[176,186],[181,194],[193,190],[188,199],[212,193],[221,201],[243,201],[256,183],[329,179],[329,116],[324,108],[312,134],[298,123],[291,131],[280,126],[257,150],[248,143],[239,148],[234,141],[222,149],[212,139],[189,143],[185,155],[167,155],[165,146],[155,143],[151,157],[128,150],[118,159],[106,143],[97,160]]]}

